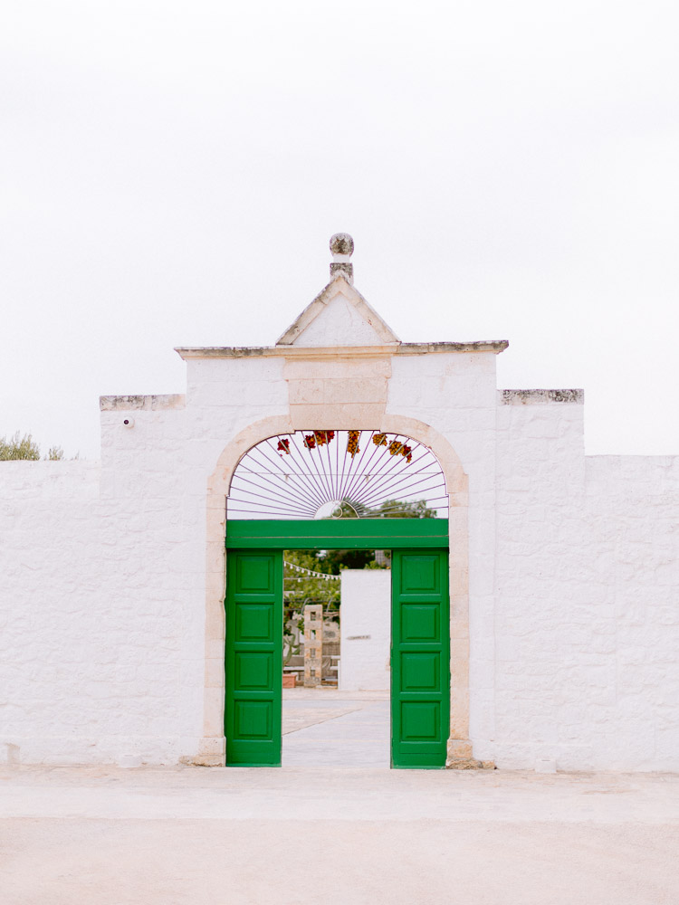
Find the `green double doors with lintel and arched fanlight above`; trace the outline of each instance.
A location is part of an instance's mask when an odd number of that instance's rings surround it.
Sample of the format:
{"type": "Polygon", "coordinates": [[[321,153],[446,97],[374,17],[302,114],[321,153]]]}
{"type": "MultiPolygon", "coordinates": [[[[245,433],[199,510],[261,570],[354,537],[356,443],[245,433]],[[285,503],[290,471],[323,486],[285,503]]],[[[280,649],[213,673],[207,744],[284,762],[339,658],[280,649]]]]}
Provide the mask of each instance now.
{"type": "Polygon", "coordinates": [[[391,764],[445,766],[445,491],[433,452],[402,434],[295,431],[245,453],[226,504],[227,764],[281,763],[283,550],[378,548],[391,555],[391,764]]]}

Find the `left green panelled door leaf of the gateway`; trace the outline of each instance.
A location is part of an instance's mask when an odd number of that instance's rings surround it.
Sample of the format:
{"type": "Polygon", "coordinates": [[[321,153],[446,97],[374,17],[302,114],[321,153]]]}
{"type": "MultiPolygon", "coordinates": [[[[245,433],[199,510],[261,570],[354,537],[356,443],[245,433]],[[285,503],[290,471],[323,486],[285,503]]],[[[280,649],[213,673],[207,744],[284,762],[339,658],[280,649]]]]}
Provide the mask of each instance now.
{"type": "Polygon", "coordinates": [[[281,766],[282,550],[226,559],[226,764],[281,766]]]}

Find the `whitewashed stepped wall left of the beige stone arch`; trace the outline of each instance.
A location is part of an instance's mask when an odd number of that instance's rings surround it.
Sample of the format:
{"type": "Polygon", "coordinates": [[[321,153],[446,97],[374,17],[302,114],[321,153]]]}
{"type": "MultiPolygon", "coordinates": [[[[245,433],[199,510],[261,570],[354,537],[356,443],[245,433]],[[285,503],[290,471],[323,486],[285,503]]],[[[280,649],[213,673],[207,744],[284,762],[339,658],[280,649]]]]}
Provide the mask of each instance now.
{"type": "Polygon", "coordinates": [[[100,463],[2,463],[0,759],[196,755],[207,480],[234,433],[287,412],[287,386],[282,360],[195,361],[188,377],[186,405],[102,400],[100,463]]]}

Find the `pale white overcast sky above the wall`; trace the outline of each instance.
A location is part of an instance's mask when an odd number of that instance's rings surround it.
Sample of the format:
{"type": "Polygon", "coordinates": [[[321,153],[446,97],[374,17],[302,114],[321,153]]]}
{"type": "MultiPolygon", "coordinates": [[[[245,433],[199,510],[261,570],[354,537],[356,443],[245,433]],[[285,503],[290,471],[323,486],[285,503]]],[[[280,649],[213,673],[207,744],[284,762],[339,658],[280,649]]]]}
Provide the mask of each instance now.
{"type": "Polygon", "coordinates": [[[272,344],[354,236],[404,341],[509,339],[590,453],[679,453],[679,7],[6,4],[0,436],[272,344]]]}

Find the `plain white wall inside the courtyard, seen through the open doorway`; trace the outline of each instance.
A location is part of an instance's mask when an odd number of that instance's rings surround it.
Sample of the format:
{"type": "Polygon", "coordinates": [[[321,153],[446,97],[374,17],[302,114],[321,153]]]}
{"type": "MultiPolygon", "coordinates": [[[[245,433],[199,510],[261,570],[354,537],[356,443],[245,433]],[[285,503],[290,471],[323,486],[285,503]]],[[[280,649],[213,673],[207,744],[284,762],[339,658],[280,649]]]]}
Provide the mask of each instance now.
{"type": "Polygon", "coordinates": [[[388,691],[391,681],[391,572],[341,573],[340,691],[388,691]]]}

